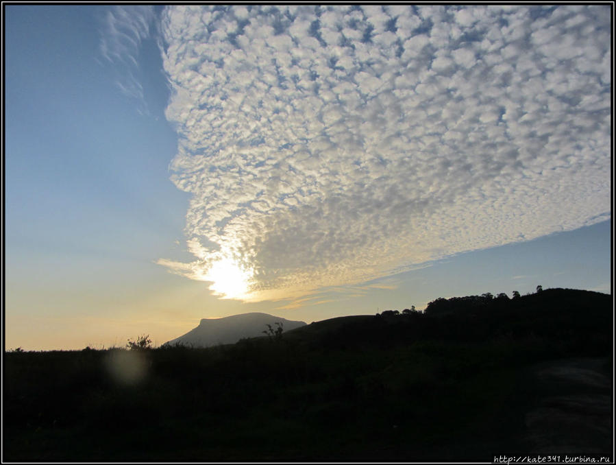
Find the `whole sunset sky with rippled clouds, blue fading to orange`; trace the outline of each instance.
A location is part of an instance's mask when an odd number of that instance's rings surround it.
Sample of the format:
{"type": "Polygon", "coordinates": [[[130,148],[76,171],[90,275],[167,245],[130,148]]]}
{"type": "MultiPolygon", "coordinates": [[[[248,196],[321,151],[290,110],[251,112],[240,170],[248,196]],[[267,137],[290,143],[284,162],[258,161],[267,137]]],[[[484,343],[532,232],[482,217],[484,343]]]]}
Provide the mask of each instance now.
{"type": "Polygon", "coordinates": [[[3,5],[5,349],[611,294],[610,5],[3,5]]]}

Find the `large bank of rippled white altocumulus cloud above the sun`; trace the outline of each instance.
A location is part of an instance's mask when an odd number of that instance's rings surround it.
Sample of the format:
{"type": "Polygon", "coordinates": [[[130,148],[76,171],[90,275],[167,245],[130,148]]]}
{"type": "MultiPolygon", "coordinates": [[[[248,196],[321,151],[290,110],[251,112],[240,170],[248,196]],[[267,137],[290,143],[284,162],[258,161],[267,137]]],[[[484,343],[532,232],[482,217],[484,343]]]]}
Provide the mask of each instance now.
{"type": "MultiPolygon", "coordinates": [[[[608,6],[171,6],[190,263],[244,300],[611,215],[608,6]]],[[[224,292],[219,292],[224,295],[224,292]]]]}

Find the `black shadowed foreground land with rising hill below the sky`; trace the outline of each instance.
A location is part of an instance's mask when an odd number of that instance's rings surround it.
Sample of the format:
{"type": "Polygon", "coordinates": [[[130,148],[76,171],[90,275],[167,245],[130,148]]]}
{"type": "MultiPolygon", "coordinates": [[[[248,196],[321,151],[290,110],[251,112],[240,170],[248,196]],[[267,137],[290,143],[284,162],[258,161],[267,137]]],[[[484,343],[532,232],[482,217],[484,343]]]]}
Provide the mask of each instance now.
{"type": "Polygon", "coordinates": [[[214,348],[5,353],[3,461],[607,457],[612,334],[611,296],[547,289],[214,348]]]}

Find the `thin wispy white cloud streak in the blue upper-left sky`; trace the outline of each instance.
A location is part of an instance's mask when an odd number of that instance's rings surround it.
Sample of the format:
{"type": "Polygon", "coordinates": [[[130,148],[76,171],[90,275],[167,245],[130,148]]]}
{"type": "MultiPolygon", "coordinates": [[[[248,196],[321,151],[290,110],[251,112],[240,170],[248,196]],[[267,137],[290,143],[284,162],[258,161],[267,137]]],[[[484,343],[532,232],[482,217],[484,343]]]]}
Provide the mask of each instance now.
{"type": "Polygon", "coordinates": [[[118,73],[116,86],[139,102],[140,112],[147,112],[139,77],[140,45],[150,37],[155,19],[151,5],[115,5],[106,11],[100,27],[101,55],[118,73]]]}

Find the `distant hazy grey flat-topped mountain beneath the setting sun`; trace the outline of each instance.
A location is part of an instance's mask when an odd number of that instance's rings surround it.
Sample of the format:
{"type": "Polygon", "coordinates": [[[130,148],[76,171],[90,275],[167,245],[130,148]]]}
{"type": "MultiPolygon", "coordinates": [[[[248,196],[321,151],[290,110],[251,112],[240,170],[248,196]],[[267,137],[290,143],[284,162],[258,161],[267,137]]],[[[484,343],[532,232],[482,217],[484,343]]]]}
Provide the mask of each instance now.
{"type": "Polygon", "coordinates": [[[208,347],[218,344],[234,344],[244,337],[259,337],[263,331],[268,331],[267,324],[275,330],[277,322],[282,323],[283,331],[306,326],[303,321],[291,321],[268,313],[242,313],[225,318],[204,318],[195,329],[188,333],[171,339],[167,342],[171,346],[182,344],[184,346],[208,347]]]}

